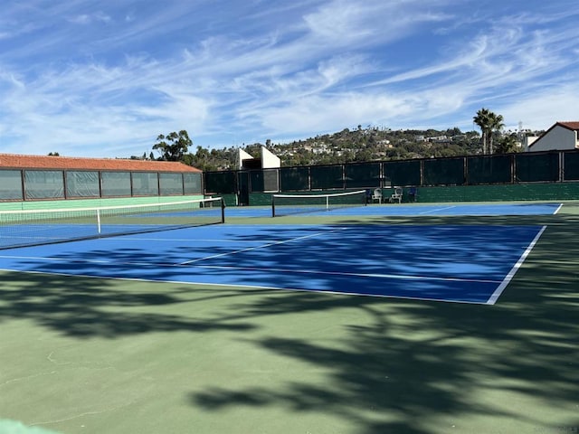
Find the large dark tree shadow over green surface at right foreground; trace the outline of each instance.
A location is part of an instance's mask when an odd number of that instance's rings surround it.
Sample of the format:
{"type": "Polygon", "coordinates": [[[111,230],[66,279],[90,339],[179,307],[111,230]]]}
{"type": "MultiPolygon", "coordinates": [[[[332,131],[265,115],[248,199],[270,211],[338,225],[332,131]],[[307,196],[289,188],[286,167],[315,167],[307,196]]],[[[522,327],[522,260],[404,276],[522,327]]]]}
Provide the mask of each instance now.
{"type": "MultiPolygon", "coordinates": [[[[536,218],[522,220],[515,223],[541,224],[536,218]]],[[[493,218],[486,224],[513,222],[493,218]]],[[[272,354],[323,370],[322,384],[297,378],[281,388],[215,386],[192,393],[191,402],[216,413],[281,407],[296,417],[332,414],[349,427],[344,432],[357,434],[578,429],[577,222],[569,217],[548,220],[532,259],[496,306],[350,298],[359,321],[349,317],[340,322],[339,342],[318,340],[315,330],[312,338],[271,335],[252,341],[272,354]],[[549,411],[555,411],[551,419],[549,411]],[[465,427],[467,420],[475,421],[465,427]]],[[[272,316],[275,321],[296,312],[341,311],[343,300],[289,294],[235,310],[240,317],[272,316]]]]}

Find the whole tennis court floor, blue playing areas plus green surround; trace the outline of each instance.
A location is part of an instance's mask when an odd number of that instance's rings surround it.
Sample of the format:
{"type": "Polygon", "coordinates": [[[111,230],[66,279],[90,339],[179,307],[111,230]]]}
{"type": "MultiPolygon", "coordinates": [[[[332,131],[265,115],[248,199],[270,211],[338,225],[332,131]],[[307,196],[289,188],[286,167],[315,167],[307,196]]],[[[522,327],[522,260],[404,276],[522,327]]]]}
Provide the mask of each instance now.
{"type": "Polygon", "coordinates": [[[0,419],[62,433],[575,429],[577,211],[227,208],[225,224],[0,250],[0,419]]]}

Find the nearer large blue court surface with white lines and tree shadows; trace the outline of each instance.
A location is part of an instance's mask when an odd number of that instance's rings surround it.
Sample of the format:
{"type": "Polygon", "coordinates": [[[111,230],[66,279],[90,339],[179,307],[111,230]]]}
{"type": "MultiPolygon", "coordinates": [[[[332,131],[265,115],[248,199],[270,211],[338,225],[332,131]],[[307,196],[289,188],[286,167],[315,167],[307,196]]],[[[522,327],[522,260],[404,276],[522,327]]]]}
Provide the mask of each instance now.
{"type": "Polygon", "coordinates": [[[0,269],[494,304],[544,230],[225,224],[0,250],[0,269]]]}

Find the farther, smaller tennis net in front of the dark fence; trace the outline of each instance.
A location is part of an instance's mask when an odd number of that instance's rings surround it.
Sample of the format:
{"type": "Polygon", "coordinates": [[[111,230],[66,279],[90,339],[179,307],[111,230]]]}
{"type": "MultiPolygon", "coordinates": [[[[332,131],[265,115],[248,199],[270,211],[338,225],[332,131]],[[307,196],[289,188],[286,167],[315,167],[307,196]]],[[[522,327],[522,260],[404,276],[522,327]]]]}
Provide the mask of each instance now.
{"type": "Polygon", "coordinates": [[[331,211],[348,206],[364,206],[365,203],[365,190],[328,194],[272,194],[271,216],[331,211]]]}

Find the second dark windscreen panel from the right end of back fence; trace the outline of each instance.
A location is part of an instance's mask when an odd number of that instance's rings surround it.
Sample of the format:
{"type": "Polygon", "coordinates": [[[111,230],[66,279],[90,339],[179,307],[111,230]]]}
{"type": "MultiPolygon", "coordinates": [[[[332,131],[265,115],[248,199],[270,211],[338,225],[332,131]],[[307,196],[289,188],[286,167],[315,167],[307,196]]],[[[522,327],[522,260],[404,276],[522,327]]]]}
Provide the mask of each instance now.
{"type": "Polygon", "coordinates": [[[559,153],[515,154],[515,179],[519,183],[558,181],[559,153]]]}

